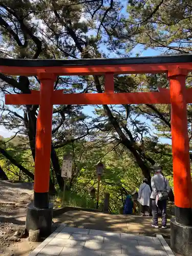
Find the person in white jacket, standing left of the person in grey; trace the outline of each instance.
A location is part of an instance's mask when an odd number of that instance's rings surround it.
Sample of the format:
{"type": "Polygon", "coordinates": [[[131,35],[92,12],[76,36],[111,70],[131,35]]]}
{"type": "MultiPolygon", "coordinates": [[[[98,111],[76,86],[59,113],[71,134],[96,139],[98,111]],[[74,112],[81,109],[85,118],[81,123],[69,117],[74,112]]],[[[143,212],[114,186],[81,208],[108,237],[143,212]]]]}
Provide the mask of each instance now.
{"type": "Polygon", "coordinates": [[[150,186],[147,184],[147,179],[143,179],[143,183],[139,187],[138,202],[141,204],[141,214],[146,216],[149,214],[150,196],[152,194],[150,186]]]}

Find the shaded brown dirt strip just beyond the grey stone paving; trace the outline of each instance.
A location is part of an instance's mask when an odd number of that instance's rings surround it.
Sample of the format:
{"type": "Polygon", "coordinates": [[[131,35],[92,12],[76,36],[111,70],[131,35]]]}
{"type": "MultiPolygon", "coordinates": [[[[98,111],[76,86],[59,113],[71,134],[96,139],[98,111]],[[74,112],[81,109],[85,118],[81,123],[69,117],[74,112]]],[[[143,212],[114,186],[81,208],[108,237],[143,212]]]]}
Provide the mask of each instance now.
{"type": "MultiPolygon", "coordinates": [[[[156,237],[156,234],[169,236],[170,221],[167,229],[153,228],[152,217],[143,218],[135,215],[112,215],[101,212],[68,211],[54,218],[55,223],[65,223],[67,226],[98,229],[109,232],[143,234],[144,236],[156,237]]],[[[161,218],[159,218],[161,225],[161,218]]]]}

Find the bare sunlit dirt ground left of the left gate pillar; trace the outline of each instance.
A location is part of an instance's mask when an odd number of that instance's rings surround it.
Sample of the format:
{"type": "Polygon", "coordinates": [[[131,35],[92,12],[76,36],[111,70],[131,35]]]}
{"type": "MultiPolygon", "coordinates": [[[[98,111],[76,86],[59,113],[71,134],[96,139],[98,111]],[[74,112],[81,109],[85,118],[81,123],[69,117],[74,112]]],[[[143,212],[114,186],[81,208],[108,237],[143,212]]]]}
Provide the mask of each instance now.
{"type": "Polygon", "coordinates": [[[0,181],[0,254],[29,255],[39,243],[16,238],[15,231],[25,230],[27,204],[33,197],[33,184],[0,181]],[[13,241],[15,240],[15,241],[13,241]]]}

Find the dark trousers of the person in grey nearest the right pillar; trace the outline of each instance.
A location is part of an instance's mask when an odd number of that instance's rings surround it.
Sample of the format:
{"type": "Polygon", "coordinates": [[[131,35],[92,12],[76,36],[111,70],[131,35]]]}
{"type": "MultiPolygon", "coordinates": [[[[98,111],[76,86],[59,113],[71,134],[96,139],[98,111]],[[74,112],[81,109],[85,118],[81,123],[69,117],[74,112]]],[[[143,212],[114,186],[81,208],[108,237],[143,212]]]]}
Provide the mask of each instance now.
{"type": "Polygon", "coordinates": [[[158,201],[158,207],[156,205],[155,199],[152,200],[152,214],[153,214],[153,224],[158,226],[158,209],[162,212],[162,226],[166,226],[167,216],[166,216],[166,200],[158,201]]]}

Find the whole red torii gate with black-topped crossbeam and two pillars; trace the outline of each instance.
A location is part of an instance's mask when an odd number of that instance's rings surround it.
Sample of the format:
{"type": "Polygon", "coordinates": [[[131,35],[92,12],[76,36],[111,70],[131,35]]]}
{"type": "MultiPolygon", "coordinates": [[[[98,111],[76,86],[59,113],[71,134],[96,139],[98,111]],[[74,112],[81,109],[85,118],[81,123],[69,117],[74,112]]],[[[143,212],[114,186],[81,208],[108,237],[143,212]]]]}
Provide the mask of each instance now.
{"type": "MultiPolygon", "coordinates": [[[[185,228],[190,226],[192,236],[192,183],[186,111],[186,104],[192,103],[192,89],[186,89],[185,87],[185,78],[189,71],[192,71],[192,55],[190,54],[121,59],[0,59],[0,72],[7,75],[37,75],[40,80],[40,91],[31,90],[31,94],[8,94],[5,98],[6,104],[39,104],[36,133],[34,205],[32,208],[49,208],[49,171],[54,104],[171,104],[176,205],[176,221],[172,222],[172,241],[176,243],[183,236],[181,226],[185,228]],[[169,90],[160,89],[159,92],[146,93],[114,92],[114,74],[136,73],[167,73],[170,88],[169,90]],[[104,75],[104,93],[63,94],[63,90],[54,91],[54,82],[58,75],[104,75]]],[[[34,211],[34,208],[31,210],[34,211]]],[[[174,247],[173,243],[172,246],[174,247]]],[[[174,248],[176,251],[181,252],[180,247],[181,245],[176,243],[174,248]]],[[[191,247],[190,250],[192,251],[191,247]]],[[[186,250],[188,249],[185,248],[184,251],[186,250]]]]}

